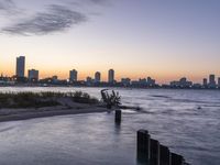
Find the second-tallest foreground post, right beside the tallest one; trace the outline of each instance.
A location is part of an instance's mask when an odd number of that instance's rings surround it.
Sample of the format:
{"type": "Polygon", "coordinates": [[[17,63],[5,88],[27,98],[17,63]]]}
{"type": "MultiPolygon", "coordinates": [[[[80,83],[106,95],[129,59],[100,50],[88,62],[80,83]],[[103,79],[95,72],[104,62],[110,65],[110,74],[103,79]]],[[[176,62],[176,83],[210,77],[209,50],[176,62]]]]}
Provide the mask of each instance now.
{"type": "Polygon", "coordinates": [[[160,143],[151,139],[151,165],[160,165],[160,143]]]}

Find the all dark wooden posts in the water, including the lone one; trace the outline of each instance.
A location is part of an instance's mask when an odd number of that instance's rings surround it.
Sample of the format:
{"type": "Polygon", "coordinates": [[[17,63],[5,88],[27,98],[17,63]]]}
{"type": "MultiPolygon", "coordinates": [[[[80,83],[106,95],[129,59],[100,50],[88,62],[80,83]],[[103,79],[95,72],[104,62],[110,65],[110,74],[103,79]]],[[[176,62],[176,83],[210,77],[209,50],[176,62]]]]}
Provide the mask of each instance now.
{"type": "MultiPolygon", "coordinates": [[[[121,123],[121,117],[122,111],[116,110],[116,123],[121,123]]],[[[146,130],[139,130],[136,133],[136,157],[143,165],[187,165],[182,155],[172,153],[167,146],[151,139],[146,130]]]]}

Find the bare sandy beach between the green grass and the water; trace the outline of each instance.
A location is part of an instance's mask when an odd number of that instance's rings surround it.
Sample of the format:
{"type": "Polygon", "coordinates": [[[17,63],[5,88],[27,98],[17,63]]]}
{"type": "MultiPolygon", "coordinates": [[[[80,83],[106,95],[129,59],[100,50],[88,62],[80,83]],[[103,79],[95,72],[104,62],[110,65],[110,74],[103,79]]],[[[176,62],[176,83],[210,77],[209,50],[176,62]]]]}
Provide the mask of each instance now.
{"type": "Polygon", "coordinates": [[[2,108],[0,109],[0,122],[13,120],[26,120],[53,116],[107,112],[108,109],[100,105],[77,103],[65,98],[59,100],[61,106],[43,108],[2,108]]]}

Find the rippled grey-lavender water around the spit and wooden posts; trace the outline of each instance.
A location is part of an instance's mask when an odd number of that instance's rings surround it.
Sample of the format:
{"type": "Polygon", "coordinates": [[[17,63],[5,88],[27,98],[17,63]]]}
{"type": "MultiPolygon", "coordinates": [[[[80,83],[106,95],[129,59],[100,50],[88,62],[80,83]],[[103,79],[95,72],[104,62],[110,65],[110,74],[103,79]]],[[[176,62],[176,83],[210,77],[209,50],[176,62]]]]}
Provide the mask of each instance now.
{"type": "MultiPolygon", "coordinates": [[[[6,91],[87,91],[100,88],[0,88],[6,91]]],[[[136,165],[135,134],[154,139],[194,165],[220,164],[220,91],[117,89],[124,105],[121,127],[112,113],[63,116],[0,123],[1,165],[136,165]],[[198,109],[201,107],[201,109],[198,109]]]]}

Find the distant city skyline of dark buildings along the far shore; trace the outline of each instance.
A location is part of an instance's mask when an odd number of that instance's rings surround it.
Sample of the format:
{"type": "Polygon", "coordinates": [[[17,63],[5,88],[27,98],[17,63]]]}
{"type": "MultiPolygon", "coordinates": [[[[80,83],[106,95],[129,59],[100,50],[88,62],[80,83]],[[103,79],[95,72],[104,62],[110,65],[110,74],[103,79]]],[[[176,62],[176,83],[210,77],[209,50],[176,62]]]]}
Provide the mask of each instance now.
{"type": "MultiPolygon", "coordinates": [[[[25,63],[25,56],[18,56],[15,58],[15,73],[12,77],[14,79],[14,76],[16,80],[19,81],[25,81],[25,78],[29,79],[30,82],[37,82],[38,80],[42,79],[54,79],[54,80],[61,80],[61,78],[57,75],[50,75],[47,77],[40,77],[40,70],[34,69],[34,68],[28,68],[28,74],[25,74],[25,68],[26,68],[26,63],[25,63]]],[[[85,81],[87,85],[92,85],[92,84],[100,84],[100,82],[108,82],[110,85],[114,85],[116,82],[121,82],[124,86],[130,86],[133,85],[147,85],[147,86],[163,86],[163,85],[169,85],[173,87],[193,87],[195,86],[196,88],[200,88],[201,86],[205,88],[219,88],[220,87],[220,76],[216,77],[215,74],[209,74],[209,77],[202,78],[199,82],[195,82],[193,80],[188,80],[186,76],[183,76],[179,78],[179,80],[169,80],[167,82],[158,82],[156,79],[152,79],[150,76],[145,77],[140,77],[138,79],[131,79],[130,77],[120,77],[120,79],[116,79],[116,70],[113,68],[110,68],[108,73],[103,74],[106,75],[107,79],[102,78],[102,73],[96,72],[94,73],[94,76],[87,75],[86,78],[80,79],[79,74],[77,69],[72,69],[69,70],[69,75],[66,78],[63,78],[63,80],[68,80],[68,82],[79,82],[79,81],[85,81]]],[[[1,74],[1,78],[7,77],[7,75],[1,74]]],[[[9,76],[10,77],[10,76],[9,76]]]]}

